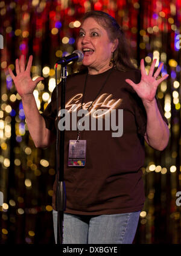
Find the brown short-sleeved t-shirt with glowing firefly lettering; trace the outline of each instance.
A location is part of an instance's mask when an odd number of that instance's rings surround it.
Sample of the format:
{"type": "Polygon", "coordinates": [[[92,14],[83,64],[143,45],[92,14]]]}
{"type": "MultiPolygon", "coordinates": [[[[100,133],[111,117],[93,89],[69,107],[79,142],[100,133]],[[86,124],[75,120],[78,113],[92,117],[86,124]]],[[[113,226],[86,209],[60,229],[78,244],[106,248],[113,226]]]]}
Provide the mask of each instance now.
{"type": "MultiPolygon", "coordinates": [[[[77,139],[77,131],[65,131],[64,179],[66,185],[66,212],[72,214],[119,214],[139,211],[144,206],[144,183],[141,167],[144,165],[144,135],[147,115],[133,88],[125,82],[130,78],[139,83],[139,71],[112,72],[103,86],[110,70],[97,75],[88,75],[83,97],[86,109],[123,109],[122,136],[113,137],[113,130],[83,130],[80,139],[86,139],[86,165],[68,167],[69,139],[77,139]],[[100,94],[97,96],[98,92],[100,94]]],[[[86,74],[69,75],[66,80],[66,109],[81,108],[86,74]],[[76,104],[76,105],[75,105],[76,104]]],[[[59,85],[60,91],[60,85],[59,85]]],[[[157,101],[160,113],[167,119],[157,101]]],[[[75,109],[74,109],[75,110],[75,109]]],[[[46,127],[56,132],[56,89],[51,103],[42,116],[46,127]]],[[[116,119],[118,124],[118,119],[116,119]]],[[[103,126],[103,128],[105,128],[103,126]]]]}

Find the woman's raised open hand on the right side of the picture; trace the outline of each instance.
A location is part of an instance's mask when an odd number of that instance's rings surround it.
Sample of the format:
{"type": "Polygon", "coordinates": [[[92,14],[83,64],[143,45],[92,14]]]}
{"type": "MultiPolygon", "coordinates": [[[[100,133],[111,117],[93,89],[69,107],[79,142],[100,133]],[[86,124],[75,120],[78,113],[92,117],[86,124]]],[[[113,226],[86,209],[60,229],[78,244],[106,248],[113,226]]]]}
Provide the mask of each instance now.
{"type": "Polygon", "coordinates": [[[136,83],[134,83],[132,80],[125,79],[125,82],[129,83],[129,85],[132,86],[138,96],[142,99],[143,103],[151,103],[151,101],[154,100],[157,86],[168,77],[168,74],[166,74],[164,75],[164,77],[156,80],[164,63],[160,64],[159,68],[157,68],[156,72],[153,75],[155,64],[156,59],[153,60],[150,71],[147,75],[144,66],[144,59],[141,59],[141,81],[136,85],[136,83]]]}

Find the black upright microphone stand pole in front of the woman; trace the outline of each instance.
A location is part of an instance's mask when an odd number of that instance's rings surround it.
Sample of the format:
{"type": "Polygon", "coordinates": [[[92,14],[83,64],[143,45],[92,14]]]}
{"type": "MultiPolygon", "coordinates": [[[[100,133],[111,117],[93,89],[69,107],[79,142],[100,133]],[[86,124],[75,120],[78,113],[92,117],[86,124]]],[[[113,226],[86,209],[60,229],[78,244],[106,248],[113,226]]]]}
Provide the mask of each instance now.
{"type": "MultiPolygon", "coordinates": [[[[65,109],[65,84],[66,84],[66,66],[61,68],[61,109],[65,109]]],[[[58,92],[58,88],[57,88],[58,92]]],[[[59,98],[57,99],[59,102],[59,98]]],[[[59,112],[59,103],[57,102],[57,114],[59,112]]],[[[61,118],[61,117],[60,117],[61,118]]],[[[57,115],[58,121],[58,115],[57,115]]],[[[65,130],[57,129],[57,190],[56,190],[56,211],[57,217],[57,244],[63,243],[63,213],[66,209],[66,190],[64,182],[64,144],[65,144],[65,130]],[[58,154],[60,152],[60,155],[58,154]],[[60,156],[60,158],[59,158],[60,156]]]]}

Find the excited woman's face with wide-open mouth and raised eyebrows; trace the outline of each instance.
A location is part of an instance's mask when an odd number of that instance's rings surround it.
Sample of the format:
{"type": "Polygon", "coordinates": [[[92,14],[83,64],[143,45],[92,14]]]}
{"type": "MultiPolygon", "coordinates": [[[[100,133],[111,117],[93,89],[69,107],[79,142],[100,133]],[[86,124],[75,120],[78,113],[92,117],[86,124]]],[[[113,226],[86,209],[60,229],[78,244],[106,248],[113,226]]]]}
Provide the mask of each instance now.
{"type": "MultiPolygon", "coordinates": [[[[116,39],[117,40],[117,39],[116,39]]],[[[110,68],[109,63],[117,44],[110,42],[107,31],[93,18],[87,18],[80,28],[77,49],[83,51],[83,65],[89,74],[98,74],[110,68]]]]}

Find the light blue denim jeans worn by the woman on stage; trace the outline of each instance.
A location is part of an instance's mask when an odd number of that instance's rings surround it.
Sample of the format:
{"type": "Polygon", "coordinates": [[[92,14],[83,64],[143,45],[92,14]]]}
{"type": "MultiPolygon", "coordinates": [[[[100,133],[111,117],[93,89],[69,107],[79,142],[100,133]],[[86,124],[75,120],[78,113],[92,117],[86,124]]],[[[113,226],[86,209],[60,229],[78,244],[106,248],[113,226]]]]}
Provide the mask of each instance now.
{"type": "MultiPolygon", "coordinates": [[[[131,244],[138,226],[139,214],[140,211],[98,216],[65,213],[63,244],[131,244]]],[[[54,210],[53,221],[57,241],[57,211],[54,210]]]]}

